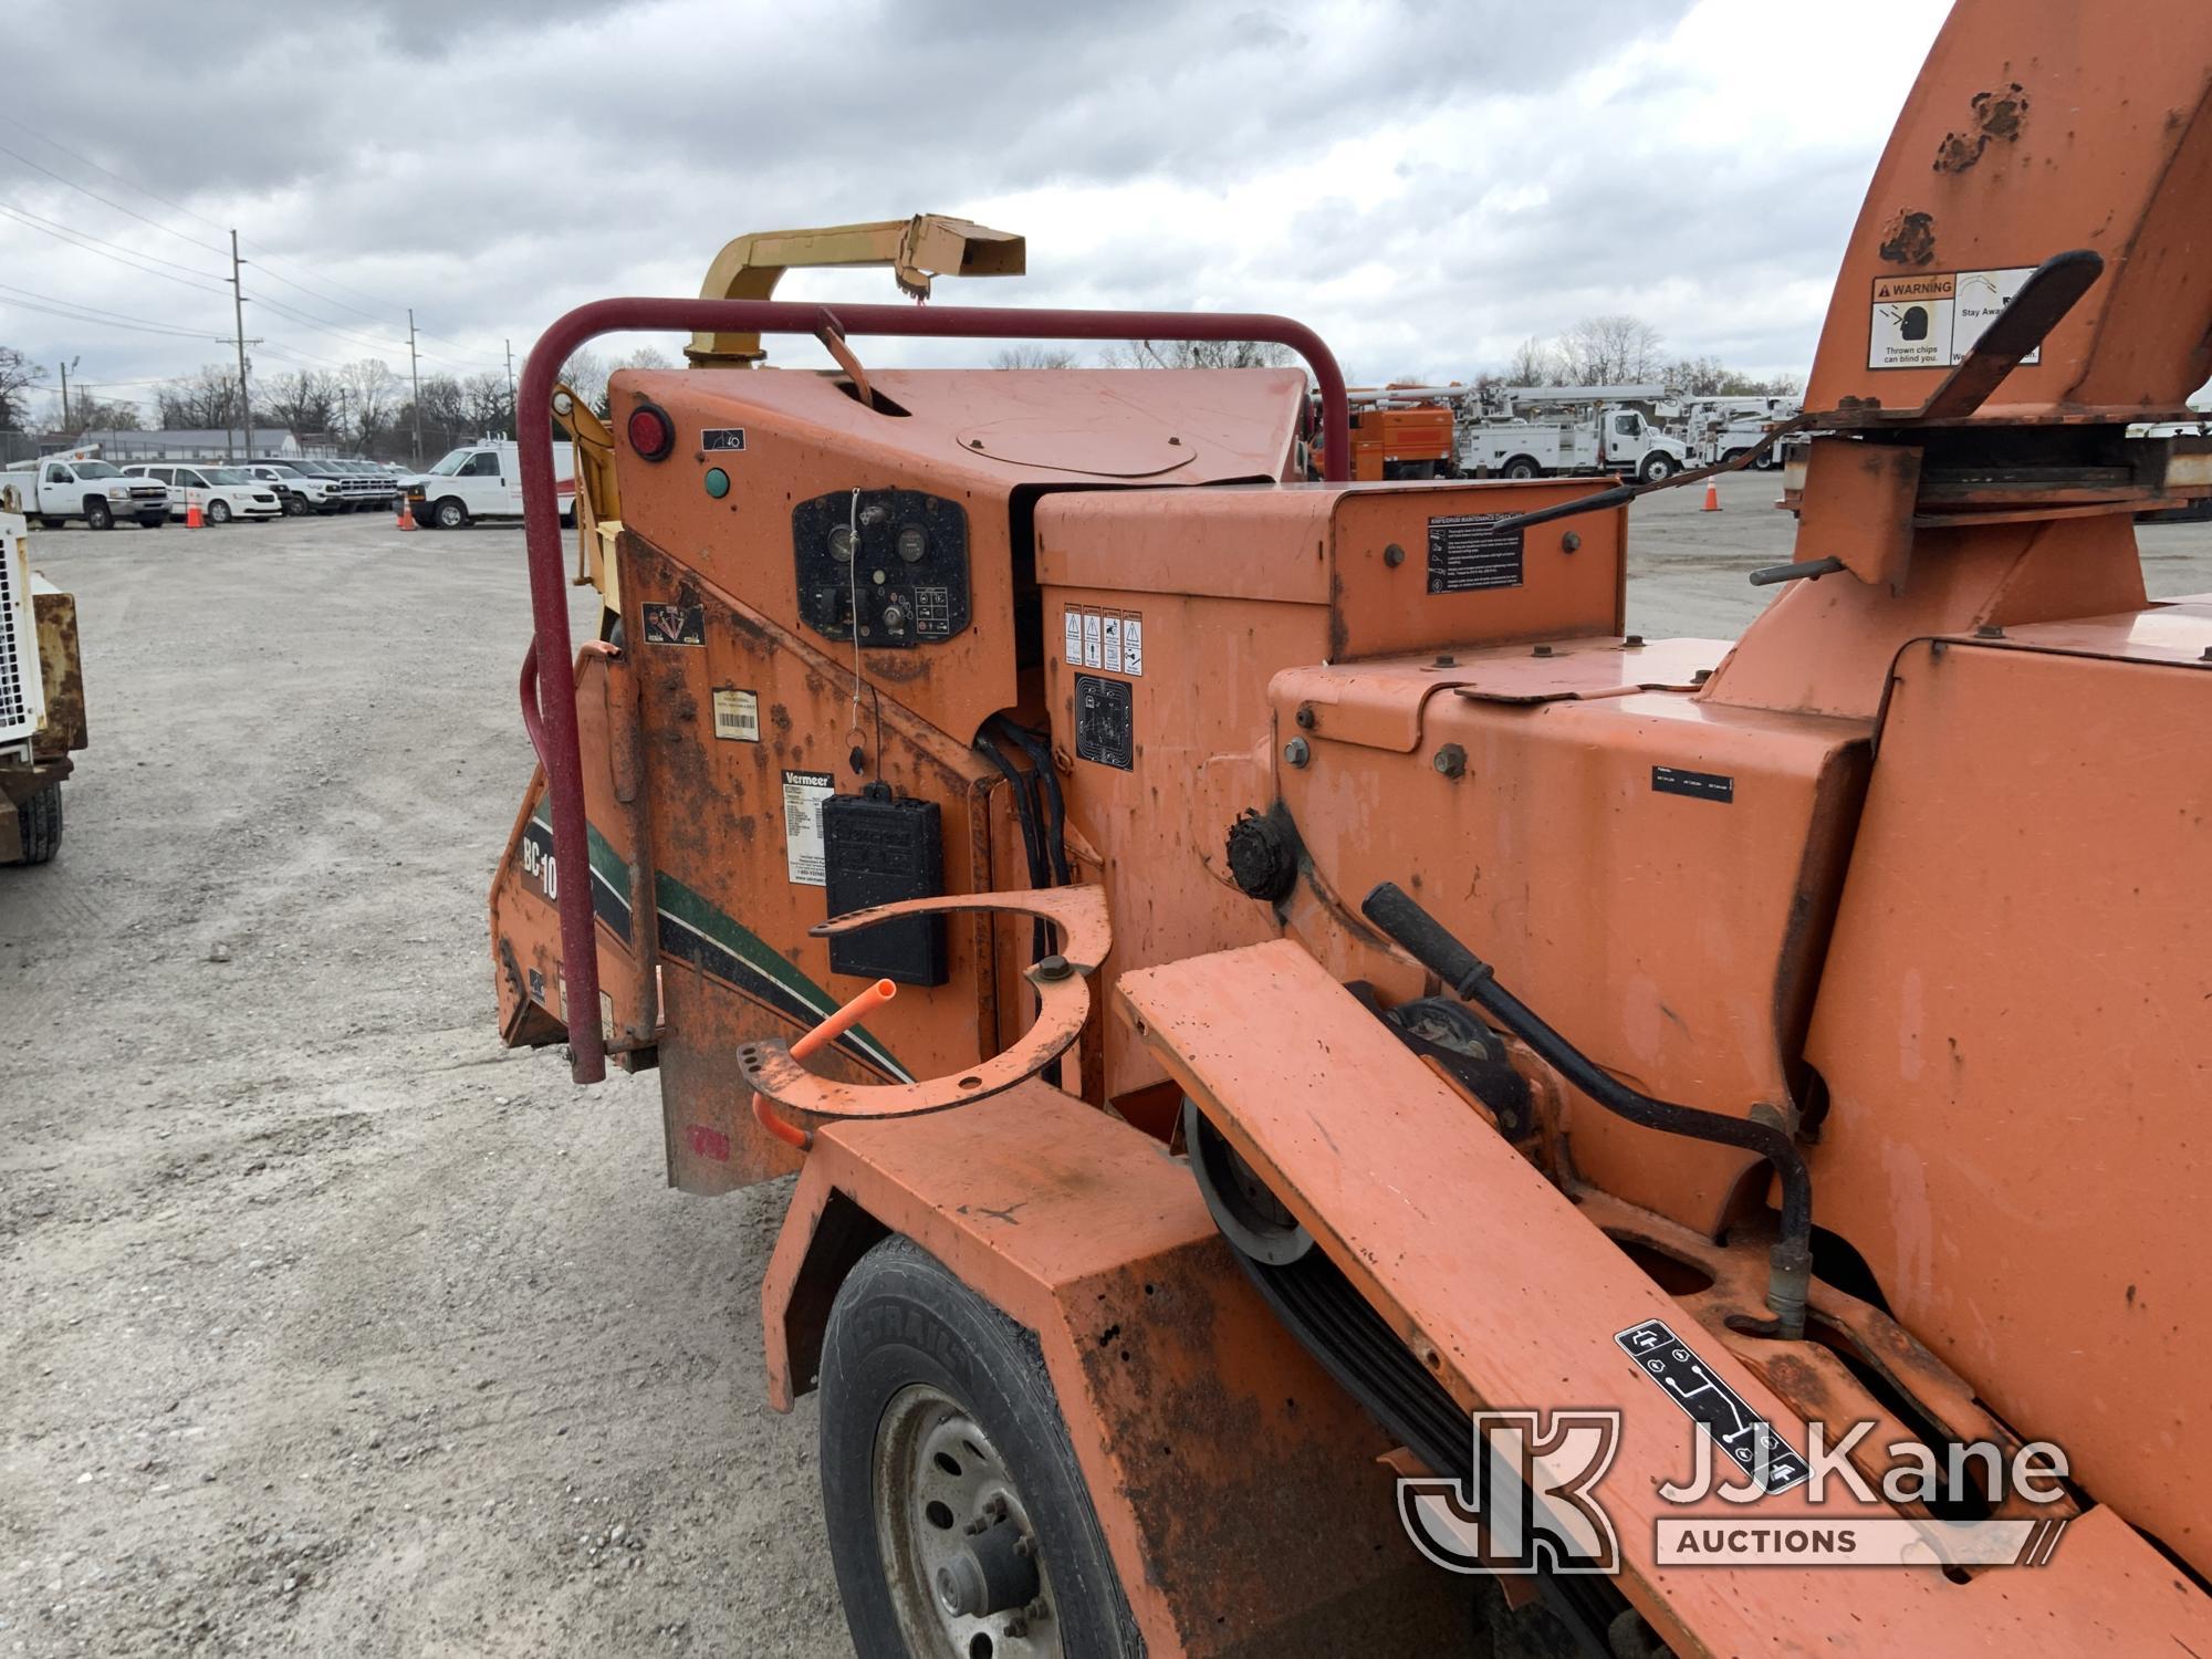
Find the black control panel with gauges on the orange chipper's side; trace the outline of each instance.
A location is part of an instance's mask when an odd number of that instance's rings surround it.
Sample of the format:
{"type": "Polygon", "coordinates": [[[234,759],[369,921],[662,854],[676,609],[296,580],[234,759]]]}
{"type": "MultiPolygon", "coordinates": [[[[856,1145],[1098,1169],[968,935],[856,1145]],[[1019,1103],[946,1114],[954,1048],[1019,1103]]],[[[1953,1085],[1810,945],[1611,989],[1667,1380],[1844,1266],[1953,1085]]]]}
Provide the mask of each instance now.
{"type": "Polygon", "coordinates": [[[967,509],[918,489],[838,489],[792,509],[799,615],[872,650],[929,646],[969,626],[967,509]]]}

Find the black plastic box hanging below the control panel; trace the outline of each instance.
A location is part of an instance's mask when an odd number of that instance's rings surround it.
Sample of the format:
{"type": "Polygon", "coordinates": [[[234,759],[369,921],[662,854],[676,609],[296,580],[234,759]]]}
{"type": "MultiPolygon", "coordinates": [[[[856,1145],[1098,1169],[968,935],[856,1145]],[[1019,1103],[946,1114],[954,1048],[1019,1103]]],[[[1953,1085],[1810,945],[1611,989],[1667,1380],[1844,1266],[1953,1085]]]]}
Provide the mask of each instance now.
{"type": "MultiPolygon", "coordinates": [[[[830,914],[936,898],[945,891],[945,830],[936,801],[894,801],[891,785],[823,801],[823,860],[830,914]]],[[[836,933],[830,971],[898,984],[945,984],[945,918],[902,916],[896,922],[836,933]]]]}

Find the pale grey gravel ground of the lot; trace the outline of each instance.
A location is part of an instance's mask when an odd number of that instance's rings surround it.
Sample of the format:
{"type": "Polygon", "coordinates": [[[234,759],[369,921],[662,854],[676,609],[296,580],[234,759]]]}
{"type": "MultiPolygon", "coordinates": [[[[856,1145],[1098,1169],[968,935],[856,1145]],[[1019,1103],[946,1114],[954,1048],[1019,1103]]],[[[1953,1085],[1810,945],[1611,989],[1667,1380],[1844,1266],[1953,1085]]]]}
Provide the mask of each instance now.
{"type": "MultiPolygon", "coordinates": [[[[1630,626],[1741,628],[1772,498],[1637,507],[1630,626]]],[[[2212,526],[2146,549],[2212,588],[2212,526]]],[[[493,1035],[520,535],[33,560],[93,748],[0,869],[0,1652],[847,1652],[761,1402],[783,1188],[668,1192],[650,1077],[493,1035]]]]}

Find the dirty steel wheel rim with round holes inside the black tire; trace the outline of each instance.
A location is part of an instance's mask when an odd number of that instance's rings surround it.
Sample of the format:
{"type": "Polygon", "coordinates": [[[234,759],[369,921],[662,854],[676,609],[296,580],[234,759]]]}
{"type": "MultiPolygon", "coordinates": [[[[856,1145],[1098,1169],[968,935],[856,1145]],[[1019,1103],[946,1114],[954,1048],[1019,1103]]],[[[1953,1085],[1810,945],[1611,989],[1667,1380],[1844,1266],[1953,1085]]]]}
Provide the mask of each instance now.
{"type": "Polygon", "coordinates": [[[998,1447],[958,1400],[909,1383],[883,1409],[872,1460],[876,1548],[891,1610],[916,1659],[1060,1659],[1060,1617],[1042,1557],[1037,1595],[1002,1613],[953,1613],[938,1568],[967,1548],[969,1526],[1004,1517],[1035,1540],[998,1447]]]}

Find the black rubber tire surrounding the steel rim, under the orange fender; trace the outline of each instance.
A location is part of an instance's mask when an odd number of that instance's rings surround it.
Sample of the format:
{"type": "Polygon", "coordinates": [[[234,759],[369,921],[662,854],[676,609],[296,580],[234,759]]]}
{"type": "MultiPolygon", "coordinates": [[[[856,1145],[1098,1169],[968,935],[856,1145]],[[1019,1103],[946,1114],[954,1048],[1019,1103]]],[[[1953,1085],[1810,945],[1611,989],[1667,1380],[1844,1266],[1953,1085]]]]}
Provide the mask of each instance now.
{"type": "MultiPolygon", "coordinates": [[[[1137,1626],[1091,1509],[1037,1338],[902,1237],[885,1239],[860,1259],[836,1294],[823,1336],[823,1522],[854,1650],[869,1659],[909,1652],[914,1659],[964,1659],[993,1650],[987,1635],[962,1639],[964,1646],[953,1650],[953,1637],[931,1610],[929,1590],[918,1590],[914,1575],[902,1575],[902,1588],[894,1590],[885,1564],[876,1464],[887,1433],[896,1458],[898,1433],[891,1425],[900,1420],[900,1402],[916,1396],[951,1402],[969,1427],[982,1431],[987,1451],[964,1442],[969,1451],[1004,1469],[1035,1540],[1044,1575],[1040,1595],[1051,1597],[1048,1617],[1066,1659],[1128,1659],[1139,1652],[1137,1626]],[[922,1646],[907,1641],[907,1628],[922,1632],[922,1646]]],[[[953,1473],[960,1469],[953,1467],[953,1473]]],[[[953,1528],[960,1515],[945,1504],[922,1513],[927,1524],[958,1542],[953,1528]],[[938,1522],[936,1513],[947,1520],[938,1522]]]]}

